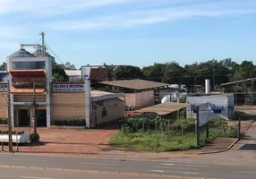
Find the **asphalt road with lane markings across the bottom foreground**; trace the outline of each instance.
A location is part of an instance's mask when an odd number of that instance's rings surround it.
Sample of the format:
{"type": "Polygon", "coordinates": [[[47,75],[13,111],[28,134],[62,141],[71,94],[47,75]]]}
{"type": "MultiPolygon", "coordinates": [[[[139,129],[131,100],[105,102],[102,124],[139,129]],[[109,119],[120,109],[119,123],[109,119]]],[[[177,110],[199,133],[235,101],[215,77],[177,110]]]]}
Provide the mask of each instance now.
{"type": "Polygon", "coordinates": [[[0,154],[0,178],[224,178],[254,179],[255,167],[178,163],[171,160],[143,161],[107,158],[64,158],[0,154]],[[13,172],[15,171],[15,172],[13,172]]]}

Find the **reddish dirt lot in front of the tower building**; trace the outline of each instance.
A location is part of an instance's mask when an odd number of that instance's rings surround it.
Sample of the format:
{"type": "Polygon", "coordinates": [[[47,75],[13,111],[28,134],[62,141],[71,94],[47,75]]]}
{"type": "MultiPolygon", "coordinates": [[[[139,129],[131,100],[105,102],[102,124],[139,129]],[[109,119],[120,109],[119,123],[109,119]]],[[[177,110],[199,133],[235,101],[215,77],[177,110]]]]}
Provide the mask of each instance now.
{"type": "MultiPolygon", "coordinates": [[[[0,127],[7,131],[7,127],[0,127]]],[[[32,130],[32,129],[31,129],[32,130]]],[[[13,131],[29,132],[28,128],[14,128],[13,131]]],[[[38,128],[40,143],[33,146],[20,146],[21,152],[98,154],[107,149],[107,141],[116,130],[75,130],[38,128]]],[[[7,147],[6,147],[7,150],[7,147]]],[[[14,148],[16,150],[16,147],[14,148]]]]}

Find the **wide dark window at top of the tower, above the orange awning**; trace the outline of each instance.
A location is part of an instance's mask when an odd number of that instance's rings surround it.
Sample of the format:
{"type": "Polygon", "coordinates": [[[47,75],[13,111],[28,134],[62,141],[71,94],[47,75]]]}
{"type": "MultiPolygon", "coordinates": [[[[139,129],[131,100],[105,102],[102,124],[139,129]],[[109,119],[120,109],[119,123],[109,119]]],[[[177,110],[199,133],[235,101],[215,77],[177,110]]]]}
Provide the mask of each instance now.
{"type": "Polygon", "coordinates": [[[13,62],[13,70],[38,70],[45,69],[45,62],[13,62]]]}

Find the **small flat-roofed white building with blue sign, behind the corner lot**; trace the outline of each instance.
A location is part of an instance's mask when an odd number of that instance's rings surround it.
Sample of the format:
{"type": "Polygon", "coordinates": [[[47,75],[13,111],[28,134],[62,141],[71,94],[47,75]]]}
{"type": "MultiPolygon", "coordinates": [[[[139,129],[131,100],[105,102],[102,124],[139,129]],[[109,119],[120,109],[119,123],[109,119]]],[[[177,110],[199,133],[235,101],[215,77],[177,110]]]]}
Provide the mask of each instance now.
{"type": "MultiPolygon", "coordinates": [[[[192,106],[209,103],[208,118],[209,119],[233,119],[235,115],[235,97],[234,94],[226,95],[205,95],[187,97],[187,103],[192,106]]],[[[204,109],[205,110],[205,109],[204,109]]],[[[196,111],[192,107],[186,107],[187,118],[196,118],[196,111]]]]}

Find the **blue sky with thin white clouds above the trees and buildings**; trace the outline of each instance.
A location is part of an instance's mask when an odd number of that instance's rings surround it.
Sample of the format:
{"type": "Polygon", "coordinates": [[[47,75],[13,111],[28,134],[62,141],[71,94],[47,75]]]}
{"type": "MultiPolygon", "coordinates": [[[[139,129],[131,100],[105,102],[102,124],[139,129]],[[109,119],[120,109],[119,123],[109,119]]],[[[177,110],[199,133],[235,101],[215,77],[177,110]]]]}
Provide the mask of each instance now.
{"type": "Polygon", "coordinates": [[[256,60],[256,0],[0,0],[0,62],[42,30],[76,67],[256,60]]]}

